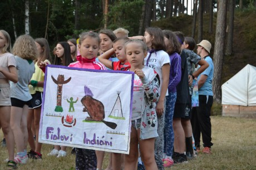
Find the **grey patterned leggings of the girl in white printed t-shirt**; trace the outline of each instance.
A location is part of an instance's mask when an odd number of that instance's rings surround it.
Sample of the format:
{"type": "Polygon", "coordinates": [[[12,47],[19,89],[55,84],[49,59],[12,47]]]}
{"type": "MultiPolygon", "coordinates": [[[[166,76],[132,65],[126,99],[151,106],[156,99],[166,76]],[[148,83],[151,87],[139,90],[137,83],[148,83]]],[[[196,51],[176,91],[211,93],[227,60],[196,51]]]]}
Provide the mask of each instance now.
{"type": "Polygon", "coordinates": [[[155,161],[156,161],[156,165],[157,168],[162,170],[164,169],[163,166],[163,152],[164,152],[164,123],[165,123],[165,104],[166,100],[164,100],[164,113],[162,116],[157,116],[157,133],[158,133],[158,137],[156,137],[155,140],[155,161]]]}

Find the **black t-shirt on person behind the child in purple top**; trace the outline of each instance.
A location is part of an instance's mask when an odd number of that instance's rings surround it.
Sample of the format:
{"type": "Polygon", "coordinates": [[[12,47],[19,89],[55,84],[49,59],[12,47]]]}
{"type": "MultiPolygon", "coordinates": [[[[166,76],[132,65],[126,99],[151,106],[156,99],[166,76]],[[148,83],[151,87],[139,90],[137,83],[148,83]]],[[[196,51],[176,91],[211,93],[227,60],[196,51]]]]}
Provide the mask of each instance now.
{"type": "Polygon", "coordinates": [[[189,80],[188,80],[188,65],[186,64],[186,53],[182,50],[181,54],[181,80],[176,86],[177,89],[177,104],[190,104],[189,100],[189,80]]]}

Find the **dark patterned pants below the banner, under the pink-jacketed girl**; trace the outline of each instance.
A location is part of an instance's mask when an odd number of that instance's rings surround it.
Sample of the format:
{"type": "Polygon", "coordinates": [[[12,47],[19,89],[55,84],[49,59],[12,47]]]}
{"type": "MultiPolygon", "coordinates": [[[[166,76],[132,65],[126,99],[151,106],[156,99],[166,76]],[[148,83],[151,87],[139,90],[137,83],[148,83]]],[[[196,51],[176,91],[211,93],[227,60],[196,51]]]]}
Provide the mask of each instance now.
{"type": "Polygon", "coordinates": [[[94,150],[76,148],[76,169],[96,170],[97,157],[94,150]]]}

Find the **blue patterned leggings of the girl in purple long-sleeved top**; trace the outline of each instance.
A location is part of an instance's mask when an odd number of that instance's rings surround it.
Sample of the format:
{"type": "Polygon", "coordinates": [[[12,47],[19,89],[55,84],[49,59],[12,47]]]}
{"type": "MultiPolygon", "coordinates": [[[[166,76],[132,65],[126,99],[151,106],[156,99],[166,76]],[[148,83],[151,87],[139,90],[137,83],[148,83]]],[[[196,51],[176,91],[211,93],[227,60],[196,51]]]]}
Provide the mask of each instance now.
{"type": "Polygon", "coordinates": [[[164,126],[164,153],[167,156],[173,156],[174,131],[173,114],[176,102],[176,92],[169,92],[166,96],[165,126],[164,126]]]}

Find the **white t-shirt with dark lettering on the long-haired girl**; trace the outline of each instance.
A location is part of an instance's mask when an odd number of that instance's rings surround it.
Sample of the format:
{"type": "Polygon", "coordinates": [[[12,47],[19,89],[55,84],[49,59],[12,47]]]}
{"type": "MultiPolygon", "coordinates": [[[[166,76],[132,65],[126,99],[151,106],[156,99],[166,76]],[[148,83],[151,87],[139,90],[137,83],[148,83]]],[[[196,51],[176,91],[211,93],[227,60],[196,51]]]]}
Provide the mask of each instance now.
{"type": "MultiPolygon", "coordinates": [[[[166,63],[170,64],[170,57],[169,54],[166,53],[164,50],[155,51],[151,54],[149,58],[150,53],[147,53],[146,58],[144,59],[144,65],[154,69],[156,73],[160,77],[160,87],[159,92],[161,92],[161,87],[163,83],[163,75],[162,75],[162,66],[166,63]],[[149,58],[149,61],[147,62],[147,59],[149,58]]],[[[166,91],[166,96],[168,96],[168,89],[166,91]]]]}

